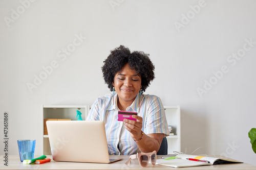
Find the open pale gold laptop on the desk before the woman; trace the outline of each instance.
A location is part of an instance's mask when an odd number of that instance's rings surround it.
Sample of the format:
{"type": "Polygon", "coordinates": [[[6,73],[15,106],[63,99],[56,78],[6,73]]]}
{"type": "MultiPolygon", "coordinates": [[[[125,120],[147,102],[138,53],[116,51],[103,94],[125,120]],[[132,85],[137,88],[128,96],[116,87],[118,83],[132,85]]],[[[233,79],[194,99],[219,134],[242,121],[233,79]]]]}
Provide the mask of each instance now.
{"type": "Polygon", "coordinates": [[[103,121],[49,120],[46,122],[55,161],[112,163],[103,121]]]}

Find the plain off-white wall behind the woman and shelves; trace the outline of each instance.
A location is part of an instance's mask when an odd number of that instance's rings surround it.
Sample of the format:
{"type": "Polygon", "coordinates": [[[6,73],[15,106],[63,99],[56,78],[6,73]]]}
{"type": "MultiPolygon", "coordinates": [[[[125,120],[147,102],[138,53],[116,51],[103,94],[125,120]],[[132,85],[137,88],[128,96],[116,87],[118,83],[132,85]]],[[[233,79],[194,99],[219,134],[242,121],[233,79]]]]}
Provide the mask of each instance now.
{"type": "Polygon", "coordinates": [[[9,155],[18,154],[17,139],[36,139],[42,153],[40,105],[88,105],[109,93],[100,67],[123,44],[155,64],[145,93],[181,106],[182,152],[203,147],[194,154],[256,165],[248,138],[256,128],[256,1],[28,2],[0,1],[0,119],[3,129],[9,112],[9,155]],[[69,55],[61,52],[67,47],[69,55]],[[47,77],[35,85],[35,76],[47,77]]]}

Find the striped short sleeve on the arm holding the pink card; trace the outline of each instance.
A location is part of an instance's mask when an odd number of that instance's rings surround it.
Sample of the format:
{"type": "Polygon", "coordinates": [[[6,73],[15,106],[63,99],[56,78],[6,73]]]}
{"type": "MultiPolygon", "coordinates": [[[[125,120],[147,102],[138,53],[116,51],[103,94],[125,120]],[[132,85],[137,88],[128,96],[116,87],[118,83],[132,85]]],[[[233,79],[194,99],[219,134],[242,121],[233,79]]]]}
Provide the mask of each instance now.
{"type": "Polygon", "coordinates": [[[158,96],[152,95],[147,107],[146,124],[144,127],[145,134],[163,133],[165,136],[168,136],[168,124],[161,99],[158,96]]]}

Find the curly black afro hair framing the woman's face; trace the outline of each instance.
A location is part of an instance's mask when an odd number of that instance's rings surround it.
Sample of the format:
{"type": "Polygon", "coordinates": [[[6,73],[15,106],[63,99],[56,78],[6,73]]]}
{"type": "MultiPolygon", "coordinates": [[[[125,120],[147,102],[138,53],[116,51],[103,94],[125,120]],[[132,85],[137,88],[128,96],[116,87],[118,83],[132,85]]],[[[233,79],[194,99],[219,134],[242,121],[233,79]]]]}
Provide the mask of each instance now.
{"type": "Polygon", "coordinates": [[[123,45],[111,51],[101,67],[104,81],[108,84],[110,90],[113,91],[114,86],[112,83],[114,82],[115,75],[128,63],[130,68],[135,69],[141,76],[141,92],[144,92],[155,78],[155,66],[148,56],[150,55],[138,51],[131,53],[129,48],[123,45]]]}

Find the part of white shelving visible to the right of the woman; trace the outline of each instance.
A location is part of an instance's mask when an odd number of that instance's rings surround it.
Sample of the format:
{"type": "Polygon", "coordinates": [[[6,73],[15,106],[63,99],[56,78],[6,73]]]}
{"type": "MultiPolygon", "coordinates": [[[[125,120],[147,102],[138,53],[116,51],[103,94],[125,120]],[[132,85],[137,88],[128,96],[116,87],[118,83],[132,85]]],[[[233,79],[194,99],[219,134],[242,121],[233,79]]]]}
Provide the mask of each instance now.
{"type": "Polygon", "coordinates": [[[167,124],[172,126],[173,136],[167,136],[168,154],[181,151],[180,106],[164,106],[167,124]]]}

